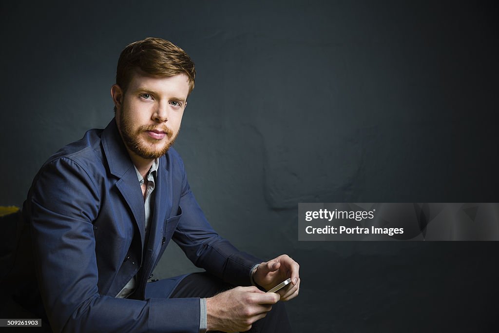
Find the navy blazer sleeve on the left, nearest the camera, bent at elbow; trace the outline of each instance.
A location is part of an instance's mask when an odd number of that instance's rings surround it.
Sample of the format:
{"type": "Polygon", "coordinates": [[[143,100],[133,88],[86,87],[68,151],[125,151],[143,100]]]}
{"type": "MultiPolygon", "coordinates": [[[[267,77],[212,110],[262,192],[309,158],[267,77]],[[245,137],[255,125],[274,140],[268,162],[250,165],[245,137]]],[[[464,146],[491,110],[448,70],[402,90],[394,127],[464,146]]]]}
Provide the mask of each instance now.
{"type": "Polygon", "coordinates": [[[27,209],[41,298],[54,332],[199,332],[199,299],[100,295],[92,221],[99,189],[70,158],[38,173],[27,209]]]}

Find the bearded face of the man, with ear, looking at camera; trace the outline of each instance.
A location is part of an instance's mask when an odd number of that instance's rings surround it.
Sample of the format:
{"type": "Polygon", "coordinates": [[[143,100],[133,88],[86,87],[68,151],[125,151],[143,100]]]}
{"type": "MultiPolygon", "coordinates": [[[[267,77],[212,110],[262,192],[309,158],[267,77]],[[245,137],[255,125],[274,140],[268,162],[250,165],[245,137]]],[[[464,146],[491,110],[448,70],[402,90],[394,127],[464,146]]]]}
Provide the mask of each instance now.
{"type": "Polygon", "coordinates": [[[143,159],[155,159],[175,141],[187,103],[189,81],[185,74],[146,76],[137,71],[123,94],[114,85],[116,122],[128,150],[143,159]]]}

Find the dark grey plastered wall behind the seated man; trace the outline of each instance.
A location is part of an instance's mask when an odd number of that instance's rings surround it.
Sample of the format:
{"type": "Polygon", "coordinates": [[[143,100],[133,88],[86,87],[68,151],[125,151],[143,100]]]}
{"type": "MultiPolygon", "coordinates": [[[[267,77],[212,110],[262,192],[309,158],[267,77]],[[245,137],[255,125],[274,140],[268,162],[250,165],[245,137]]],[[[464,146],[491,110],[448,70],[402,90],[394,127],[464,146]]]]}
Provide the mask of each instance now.
{"type": "MultiPolygon", "coordinates": [[[[298,242],[298,202],[498,202],[493,1],[46,1],[0,5],[0,204],[113,117],[128,43],[198,76],[177,149],[212,225],[301,265],[295,332],[484,332],[495,242],[298,242]]],[[[193,269],[172,246],[159,277],[193,269]]]]}

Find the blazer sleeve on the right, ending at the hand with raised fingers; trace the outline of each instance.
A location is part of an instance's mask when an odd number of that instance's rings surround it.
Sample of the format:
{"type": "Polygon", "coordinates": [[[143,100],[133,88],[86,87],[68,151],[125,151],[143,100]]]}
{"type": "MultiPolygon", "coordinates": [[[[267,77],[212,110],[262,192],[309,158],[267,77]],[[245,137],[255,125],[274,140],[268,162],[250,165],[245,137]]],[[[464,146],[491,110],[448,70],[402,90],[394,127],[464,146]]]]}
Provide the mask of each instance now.
{"type": "Polygon", "coordinates": [[[211,227],[191,191],[180,157],[179,161],[182,215],[172,239],[197,267],[235,286],[251,286],[250,270],[262,260],[239,251],[211,227]]]}

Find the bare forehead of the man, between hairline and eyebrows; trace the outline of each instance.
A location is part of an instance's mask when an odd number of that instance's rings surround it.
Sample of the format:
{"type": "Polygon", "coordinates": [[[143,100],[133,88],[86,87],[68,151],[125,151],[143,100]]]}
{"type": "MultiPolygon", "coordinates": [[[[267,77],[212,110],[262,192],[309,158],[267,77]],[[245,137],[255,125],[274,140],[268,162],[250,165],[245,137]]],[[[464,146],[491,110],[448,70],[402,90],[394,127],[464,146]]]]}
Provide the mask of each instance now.
{"type": "Polygon", "coordinates": [[[146,75],[137,70],[132,72],[127,92],[149,91],[163,95],[187,98],[189,78],[181,73],[173,76],[146,75]]]}

